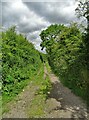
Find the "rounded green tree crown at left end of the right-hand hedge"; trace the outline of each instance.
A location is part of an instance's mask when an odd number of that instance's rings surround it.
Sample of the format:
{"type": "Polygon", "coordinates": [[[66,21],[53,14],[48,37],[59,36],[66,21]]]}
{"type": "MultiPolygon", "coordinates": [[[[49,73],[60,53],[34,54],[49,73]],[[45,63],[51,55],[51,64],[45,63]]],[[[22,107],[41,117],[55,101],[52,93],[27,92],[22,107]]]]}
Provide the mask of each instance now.
{"type": "Polygon", "coordinates": [[[47,47],[48,51],[50,51],[50,47],[54,44],[56,41],[57,35],[61,32],[61,29],[64,28],[64,25],[51,25],[48,27],[48,29],[43,30],[40,34],[40,37],[42,39],[41,47],[42,49],[44,47],[47,47]]]}

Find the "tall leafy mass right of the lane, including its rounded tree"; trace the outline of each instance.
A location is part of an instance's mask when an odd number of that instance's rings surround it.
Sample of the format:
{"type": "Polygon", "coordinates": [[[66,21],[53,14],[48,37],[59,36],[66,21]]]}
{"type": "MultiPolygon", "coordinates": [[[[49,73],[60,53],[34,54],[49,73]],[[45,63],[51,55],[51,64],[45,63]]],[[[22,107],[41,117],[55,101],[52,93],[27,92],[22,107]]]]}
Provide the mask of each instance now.
{"type": "Polygon", "coordinates": [[[41,46],[46,47],[48,61],[54,73],[73,92],[87,99],[86,46],[77,24],[69,27],[51,25],[40,36],[41,46]]]}

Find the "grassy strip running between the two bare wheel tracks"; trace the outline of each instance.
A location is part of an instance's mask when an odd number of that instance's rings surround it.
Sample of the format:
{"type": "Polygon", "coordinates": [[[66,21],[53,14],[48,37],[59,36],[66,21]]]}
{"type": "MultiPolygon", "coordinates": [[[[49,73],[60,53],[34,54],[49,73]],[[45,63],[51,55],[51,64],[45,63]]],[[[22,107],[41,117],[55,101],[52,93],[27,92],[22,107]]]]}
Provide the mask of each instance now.
{"type": "Polygon", "coordinates": [[[39,89],[36,91],[34,99],[29,104],[27,113],[29,118],[42,118],[45,115],[45,101],[47,99],[47,94],[51,90],[50,79],[48,76],[44,79],[43,68],[41,68],[39,75],[35,77],[34,84],[39,86],[39,89]]]}

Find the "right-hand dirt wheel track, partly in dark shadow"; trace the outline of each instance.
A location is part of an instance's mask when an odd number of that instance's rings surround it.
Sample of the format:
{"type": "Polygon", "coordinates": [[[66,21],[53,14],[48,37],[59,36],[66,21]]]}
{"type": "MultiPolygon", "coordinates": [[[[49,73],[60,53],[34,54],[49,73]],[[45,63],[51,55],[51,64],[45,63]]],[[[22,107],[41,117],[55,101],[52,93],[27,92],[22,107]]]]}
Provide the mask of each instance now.
{"type": "Polygon", "coordinates": [[[49,76],[53,86],[49,94],[49,100],[55,101],[58,105],[55,105],[56,108],[50,111],[48,117],[88,120],[87,106],[84,101],[63,86],[54,74],[50,73],[49,76]]]}

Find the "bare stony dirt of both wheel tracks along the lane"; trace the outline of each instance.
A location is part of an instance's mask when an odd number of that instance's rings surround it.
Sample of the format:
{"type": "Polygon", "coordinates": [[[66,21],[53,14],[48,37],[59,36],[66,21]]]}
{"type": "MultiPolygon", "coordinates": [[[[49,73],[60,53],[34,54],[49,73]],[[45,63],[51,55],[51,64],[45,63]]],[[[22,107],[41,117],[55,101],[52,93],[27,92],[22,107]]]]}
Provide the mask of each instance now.
{"type": "MultiPolygon", "coordinates": [[[[48,73],[46,66],[44,66],[44,80],[47,75],[52,83],[52,89],[48,93],[48,99],[45,101],[44,106],[44,115],[41,118],[70,118],[77,120],[83,118],[83,120],[88,120],[87,106],[81,98],[63,86],[60,80],[51,72],[48,73]]],[[[38,89],[38,86],[30,83],[18,95],[17,100],[8,103],[10,111],[4,113],[3,118],[29,118],[26,108],[31,104],[38,89]]]]}

